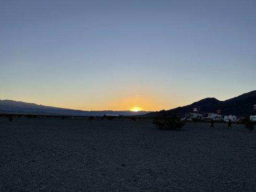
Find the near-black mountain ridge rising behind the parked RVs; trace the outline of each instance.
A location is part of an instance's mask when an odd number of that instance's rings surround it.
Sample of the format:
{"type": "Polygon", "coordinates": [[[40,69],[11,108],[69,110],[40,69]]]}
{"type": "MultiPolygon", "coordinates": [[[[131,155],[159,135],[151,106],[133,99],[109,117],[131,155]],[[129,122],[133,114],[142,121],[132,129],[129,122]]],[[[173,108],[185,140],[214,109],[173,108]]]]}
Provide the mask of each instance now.
{"type": "MultiPolygon", "coordinates": [[[[256,90],[225,101],[219,101],[216,98],[205,98],[195,103],[192,103],[191,105],[173,108],[167,110],[166,112],[176,114],[179,117],[184,117],[186,113],[193,112],[194,108],[200,107],[200,111],[198,111],[197,113],[216,113],[217,110],[220,109],[221,115],[248,117],[250,115],[256,115],[256,109],[254,109],[254,105],[256,105],[256,90]]],[[[164,111],[165,110],[151,112],[146,114],[146,116],[153,117],[164,111]]]]}

